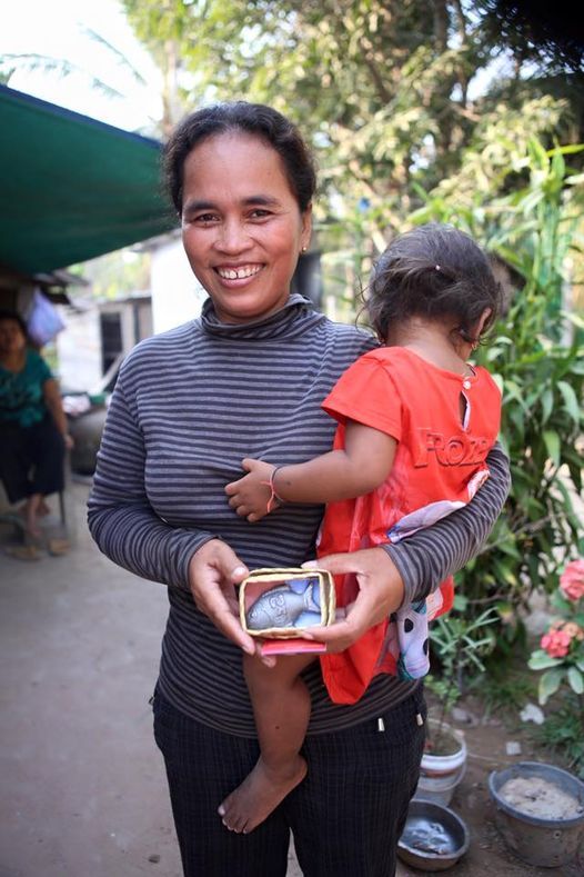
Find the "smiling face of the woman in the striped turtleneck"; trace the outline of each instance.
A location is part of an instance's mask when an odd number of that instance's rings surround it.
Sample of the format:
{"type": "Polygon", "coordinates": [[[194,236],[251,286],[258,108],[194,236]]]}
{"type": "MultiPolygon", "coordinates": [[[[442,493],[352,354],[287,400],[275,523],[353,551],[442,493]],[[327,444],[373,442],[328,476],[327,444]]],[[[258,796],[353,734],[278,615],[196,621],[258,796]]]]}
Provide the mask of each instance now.
{"type": "Polygon", "coordinates": [[[310,219],[278,152],[251,134],[209,138],[184,162],[184,250],[223,322],[268,317],[285,305],[310,219]]]}

